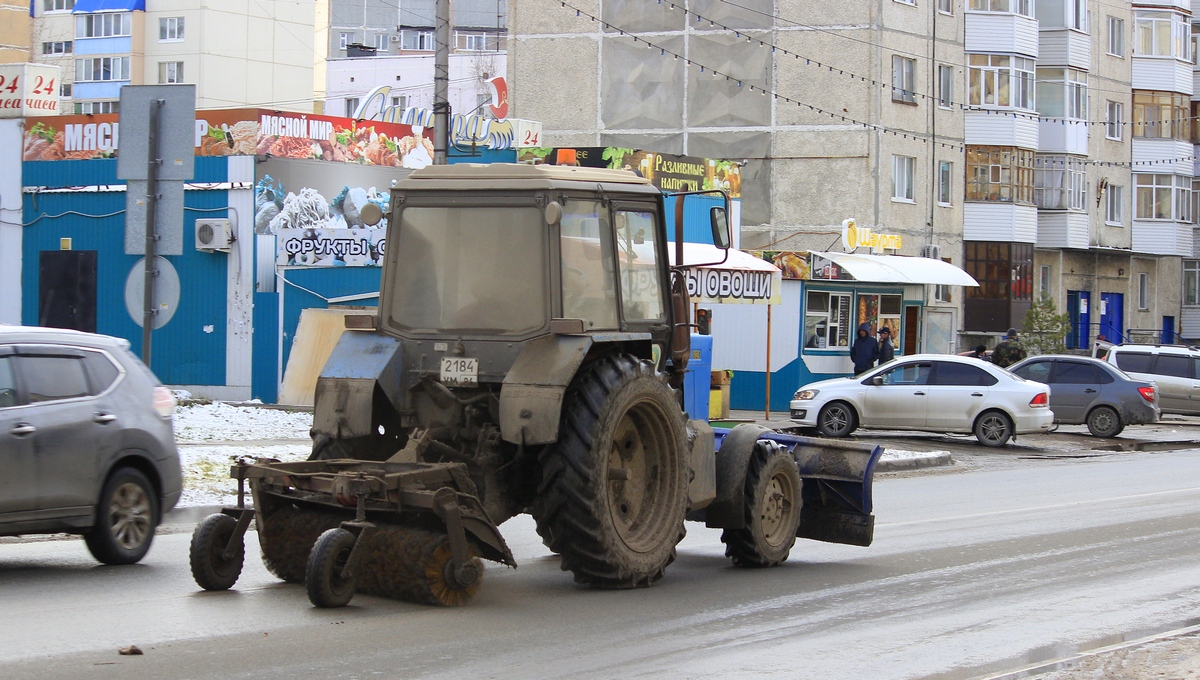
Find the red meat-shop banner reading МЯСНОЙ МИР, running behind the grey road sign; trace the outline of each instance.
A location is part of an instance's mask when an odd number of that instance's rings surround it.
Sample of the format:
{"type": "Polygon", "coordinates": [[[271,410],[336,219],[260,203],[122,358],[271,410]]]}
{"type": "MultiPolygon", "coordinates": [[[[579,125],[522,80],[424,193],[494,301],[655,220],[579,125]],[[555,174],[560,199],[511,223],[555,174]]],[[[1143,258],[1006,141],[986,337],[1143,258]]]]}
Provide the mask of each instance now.
{"type": "MultiPolygon", "coordinates": [[[[433,163],[433,131],[384,121],[230,109],[196,112],[197,156],[263,156],[424,168],[433,163]]],[[[22,160],[112,158],[120,143],[116,114],[30,118],[22,160]]]]}

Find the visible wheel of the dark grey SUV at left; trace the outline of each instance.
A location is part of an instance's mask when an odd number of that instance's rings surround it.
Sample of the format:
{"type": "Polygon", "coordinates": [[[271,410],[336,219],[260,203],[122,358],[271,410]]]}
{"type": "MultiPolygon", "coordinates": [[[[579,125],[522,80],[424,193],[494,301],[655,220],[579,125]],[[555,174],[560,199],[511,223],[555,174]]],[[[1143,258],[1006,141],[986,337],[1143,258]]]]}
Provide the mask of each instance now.
{"type": "Polygon", "coordinates": [[[96,525],[84,534],[92,556],[106,565],[131,565],[150,550],[158,526],[158,494],[139,470],[120,468],[104,482],[96,525]]]}

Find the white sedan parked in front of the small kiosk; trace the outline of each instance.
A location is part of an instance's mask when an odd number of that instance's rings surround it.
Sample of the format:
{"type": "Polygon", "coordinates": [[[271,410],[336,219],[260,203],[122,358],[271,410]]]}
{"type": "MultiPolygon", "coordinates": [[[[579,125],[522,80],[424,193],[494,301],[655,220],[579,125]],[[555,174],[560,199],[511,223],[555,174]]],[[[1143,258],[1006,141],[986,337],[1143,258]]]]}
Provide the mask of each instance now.
{"type": "Polygon", "coordinates": [[[986,361],[916,354],[854,378],[812,383],[792,397],[791,419],[824,437],[857,427],[974,433],[985,446],[1050,429],[1050,389],[986,361]]]}

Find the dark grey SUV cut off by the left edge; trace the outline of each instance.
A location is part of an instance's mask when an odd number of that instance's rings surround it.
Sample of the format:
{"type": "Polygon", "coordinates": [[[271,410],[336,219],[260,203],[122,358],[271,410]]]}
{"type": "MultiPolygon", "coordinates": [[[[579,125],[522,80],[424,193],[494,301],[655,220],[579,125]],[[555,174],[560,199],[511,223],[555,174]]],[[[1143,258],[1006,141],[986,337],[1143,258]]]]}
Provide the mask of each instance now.
{"type": "Polygon", "coordinates": [[[133,564],[182,489],[175,398],[130,343],[0,325],[0,535],[82,534],[133,564]]]}

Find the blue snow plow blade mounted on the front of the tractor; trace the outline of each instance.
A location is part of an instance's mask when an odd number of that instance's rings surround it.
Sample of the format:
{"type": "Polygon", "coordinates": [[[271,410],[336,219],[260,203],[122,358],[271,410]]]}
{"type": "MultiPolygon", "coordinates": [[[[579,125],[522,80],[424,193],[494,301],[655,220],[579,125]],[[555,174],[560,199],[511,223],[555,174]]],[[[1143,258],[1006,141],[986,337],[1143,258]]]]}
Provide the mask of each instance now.
{"type": "MultiPolygon", "coordinates": [[[[720,451],[725,428],[713,428],[720,451]]],[[[763,431],[758,439],[778,441],[800,468],[799,538],[870,546],[875,536],[871,480],[882,446],[763,431]]]]}

